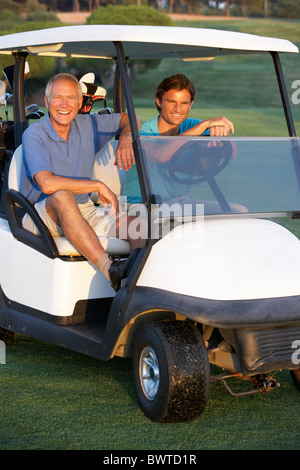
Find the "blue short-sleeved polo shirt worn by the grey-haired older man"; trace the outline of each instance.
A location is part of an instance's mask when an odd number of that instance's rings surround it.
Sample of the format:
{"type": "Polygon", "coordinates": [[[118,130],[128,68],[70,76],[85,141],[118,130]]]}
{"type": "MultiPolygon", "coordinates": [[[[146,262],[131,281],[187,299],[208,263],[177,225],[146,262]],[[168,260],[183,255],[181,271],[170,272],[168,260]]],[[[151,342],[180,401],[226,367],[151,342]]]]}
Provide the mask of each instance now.
{"type": "MultiPolygon", "coordinates": [[[[120,114],[78,114],[71,122],[67,141],[58,135],[49,115],[31,124],[22,139],[25,164],[21,177],[22,194],[32,203],[47,197],[33,179],[39,171],[92,179],[95,155],[119,131],[120,119],[120,114]]],[[[84,203],[89,194],[75,194],[74,197],[77,203],[84,203]]]]}

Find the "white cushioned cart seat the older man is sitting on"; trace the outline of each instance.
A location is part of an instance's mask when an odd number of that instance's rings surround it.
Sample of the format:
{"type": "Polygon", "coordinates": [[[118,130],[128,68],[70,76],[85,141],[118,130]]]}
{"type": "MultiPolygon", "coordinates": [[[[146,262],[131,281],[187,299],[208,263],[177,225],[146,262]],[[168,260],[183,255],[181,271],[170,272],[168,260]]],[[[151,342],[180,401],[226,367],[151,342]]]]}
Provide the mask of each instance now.
{"type": "MultiPolygon", "coordinates": [[[[119,197],[121,192],[121,180],[124,172],[119,171],[117,166],[114,165],[117,145],[117,141],[110,141],[97,153],[93,178],[103,181],[117,195],[117,197],[119,197]]],[[[8,174],[8,189],[20,192],[22,171],[24,171],[24,166],[22,164],[22,146],[20,145],[15,150],[11,159],[8,174]]],[[[92,199],[94,202],[99,203],[97,193],[92,194],[92,199]]],[[[103,210],[105,210],[104,207],[103,210]]],[[[130,252],[129,242],[127,240],[103,236],[99,236],[98,238],[108,254],[128,255],[130,252]]],[[[54,237],[53,239],[61,256],[80,256],[80,253],[66,239],[66,237],[54,237]]]]}

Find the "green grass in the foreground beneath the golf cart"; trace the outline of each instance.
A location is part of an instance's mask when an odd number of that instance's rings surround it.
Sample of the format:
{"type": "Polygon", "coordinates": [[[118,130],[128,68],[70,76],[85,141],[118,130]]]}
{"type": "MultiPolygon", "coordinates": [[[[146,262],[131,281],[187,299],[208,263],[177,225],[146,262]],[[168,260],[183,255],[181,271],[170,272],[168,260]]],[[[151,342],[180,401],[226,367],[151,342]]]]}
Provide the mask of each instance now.
{"type": "MultiPolygon", "coordinates": [[[[16,335],[0,374],[0,449],[300,449],[289,372],[276,375],[281,386],[267,395],[237,398],[213,383],[204,414],[183,424],[145,418],[130,360],[101,362],[16,335]]],[[[251,389],[233,380],[234,392],[251,389]]]]}

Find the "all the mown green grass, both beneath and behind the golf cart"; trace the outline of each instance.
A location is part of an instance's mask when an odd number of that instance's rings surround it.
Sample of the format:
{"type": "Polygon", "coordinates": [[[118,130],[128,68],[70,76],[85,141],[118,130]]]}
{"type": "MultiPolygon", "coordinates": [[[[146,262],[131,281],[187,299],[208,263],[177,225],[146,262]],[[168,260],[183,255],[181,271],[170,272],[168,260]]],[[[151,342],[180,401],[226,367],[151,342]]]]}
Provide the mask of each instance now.
{"type": "MultiPolygon", "coordinates": [[[[188,23],[284,37],[298,45],[299,24],[273,20],[188,23]]],[[[299,64],[298,56],[283,58],[290,96],[292,81],[300,79],[299,64]]],[[[186,69],[183,65],[162,61],[146,74],[136,71],[134,96],[143,120],[156,115],[153,95],[158,81],[184,71],[197,87],[191,116],[226,115],[234,122],[236,135],[287,135],[270,60],[259,59],[253,65],[248,59],[228,58],[198,64],[201,80],[196,79],[191,64],[185,64],[186,69]]],[[[292,104],[292,109],[299,133],[300,105],[292,104]]],[[[299,233],[299,224],[296,230],[299,233]]],[[[267,395],[235,398],[220,383],[213,383],[201,417],[162,425],[149,421],[138,407],[130,360],[101,362],[22,335],[15,335],[6,353],[6,364],[0,365],[1,450],[300,449],[299,391],[289,372],[278,373],[281,387],[267,395]]],[[[233,388],[245,391],[249,384],[233,382],[233,388]]]]}

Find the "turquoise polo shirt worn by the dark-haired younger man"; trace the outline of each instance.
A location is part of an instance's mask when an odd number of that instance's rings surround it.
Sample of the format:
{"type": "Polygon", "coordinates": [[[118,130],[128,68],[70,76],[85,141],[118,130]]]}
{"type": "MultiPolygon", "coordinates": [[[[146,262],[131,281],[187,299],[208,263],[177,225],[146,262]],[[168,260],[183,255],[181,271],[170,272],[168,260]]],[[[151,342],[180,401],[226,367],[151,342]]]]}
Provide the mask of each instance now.
{"type": "MultiPolygon", "coordinates": [[[[179,134],[182,134],[182,132],[191,129],[191,127],[196,126],[196,124],[199,124],[199,122],[201,122],[200,119],[187,118],[181,123],[179,134]]],[[[149,121],[145,121],[141,125],[140,135],[160,136],[158,130],[158,118],[155,117],[149,121]]],[[[206,130],[202,135],[209,135],[209,130],[206,130]]],[[[158,163],[156,165],[160,164],[158,163]]],[[[127,197],[128,203],[138,203],[142,201],[139,179],[135,165],[130,170],[126,171],[124,184],[122,187],[122,194],[127,197]]]]}

